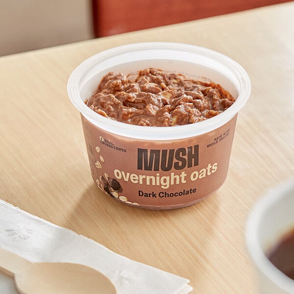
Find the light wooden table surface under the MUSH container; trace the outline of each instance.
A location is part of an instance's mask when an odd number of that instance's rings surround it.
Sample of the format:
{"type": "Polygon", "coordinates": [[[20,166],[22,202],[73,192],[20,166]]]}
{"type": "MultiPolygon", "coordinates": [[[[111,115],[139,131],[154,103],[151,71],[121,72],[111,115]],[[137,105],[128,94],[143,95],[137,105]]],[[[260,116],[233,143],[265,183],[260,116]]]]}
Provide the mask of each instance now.
{"type": "Polygon", "coordinates": [[[294,2],[0,58],[0,198],[133,260],[191,280],[193,293],[255,293],[244,226],[267,189],[294,174],[294,2]],[[227,179],[172,211],[129,207],[91,178],[67,80],[87,57],[146,41],[220,51],[249,74],[227,179]]]}

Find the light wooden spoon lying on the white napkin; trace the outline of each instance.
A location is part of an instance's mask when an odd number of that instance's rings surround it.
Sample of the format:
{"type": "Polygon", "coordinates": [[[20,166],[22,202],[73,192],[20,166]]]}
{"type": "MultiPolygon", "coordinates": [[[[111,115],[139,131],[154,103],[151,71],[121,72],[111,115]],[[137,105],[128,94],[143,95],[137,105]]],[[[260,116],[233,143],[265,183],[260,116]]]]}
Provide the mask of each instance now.
{"type": "Polygon", "coordinates": [[[32,263],[0,248],[0,270],[14,276],[21,294],[116,294],[102,273],[73,263],[32,263]]]}

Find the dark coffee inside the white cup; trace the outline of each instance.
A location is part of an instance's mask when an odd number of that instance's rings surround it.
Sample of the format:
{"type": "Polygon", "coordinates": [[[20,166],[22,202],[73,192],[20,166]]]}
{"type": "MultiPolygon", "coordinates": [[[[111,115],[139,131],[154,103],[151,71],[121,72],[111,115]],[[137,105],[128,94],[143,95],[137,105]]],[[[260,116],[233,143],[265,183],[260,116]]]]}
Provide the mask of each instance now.
{"type": "Polygon", "coordinates": [[[270,250],[268,258],[277,269],[294,280],[294,229],[270,250]]]}

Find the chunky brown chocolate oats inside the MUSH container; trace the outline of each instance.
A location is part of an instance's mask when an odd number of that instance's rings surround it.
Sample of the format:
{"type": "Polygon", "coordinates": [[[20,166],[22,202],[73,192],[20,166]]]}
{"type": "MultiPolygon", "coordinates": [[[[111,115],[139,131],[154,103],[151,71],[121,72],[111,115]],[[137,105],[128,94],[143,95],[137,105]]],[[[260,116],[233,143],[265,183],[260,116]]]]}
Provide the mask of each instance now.
{"type": "Polygon", "coordinates": [[[86,101],[98,114],[143,126],[175,126],[212,118],[235,99],[221,85],[159,69],[106,74],[86,101]]]}

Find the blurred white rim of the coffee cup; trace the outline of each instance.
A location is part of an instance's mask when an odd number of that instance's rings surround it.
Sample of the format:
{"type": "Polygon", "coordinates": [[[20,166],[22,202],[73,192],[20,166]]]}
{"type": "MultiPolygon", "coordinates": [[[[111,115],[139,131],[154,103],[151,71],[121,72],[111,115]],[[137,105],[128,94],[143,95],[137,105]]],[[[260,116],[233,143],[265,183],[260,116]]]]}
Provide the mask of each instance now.
{"type": "Polygon", "coordinates": [[[289,193],[294,193],[294,179],[271,189],[268,194],[254,205],[245,227],[245,242],[254,265],[279,288],[287,293],[294,293],[294,280],[278,270],[270,262],[258,242],[258,224],[262,220],[264,213],[289,193]]]}

